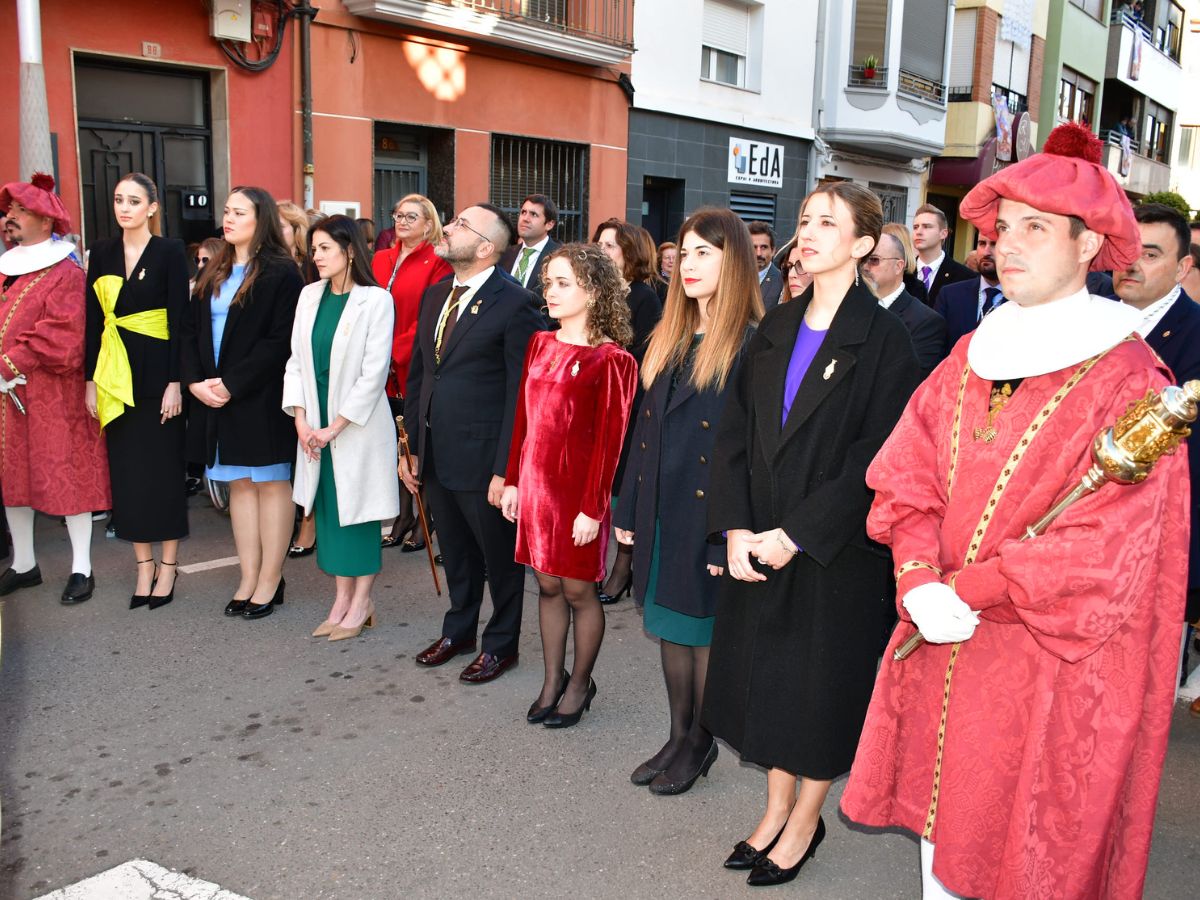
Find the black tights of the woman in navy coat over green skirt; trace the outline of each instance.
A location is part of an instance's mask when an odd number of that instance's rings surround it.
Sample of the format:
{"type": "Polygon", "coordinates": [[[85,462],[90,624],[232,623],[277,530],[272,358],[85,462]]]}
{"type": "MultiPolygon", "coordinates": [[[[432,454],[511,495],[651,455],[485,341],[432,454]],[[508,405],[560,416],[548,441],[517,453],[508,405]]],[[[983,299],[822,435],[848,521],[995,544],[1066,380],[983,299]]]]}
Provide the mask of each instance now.
{"type": "Polygon", "coordinates": [[[696,770],[713,744],[713,736],[700,724],[708,647],[688,647],[670,641],[659,641],[659,646],[671,709],[671,736],[646,764],[652,769],[666,769],[668,779],[683,780],[696,770]]]}

